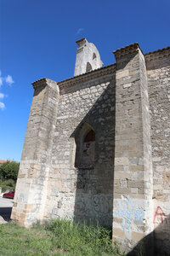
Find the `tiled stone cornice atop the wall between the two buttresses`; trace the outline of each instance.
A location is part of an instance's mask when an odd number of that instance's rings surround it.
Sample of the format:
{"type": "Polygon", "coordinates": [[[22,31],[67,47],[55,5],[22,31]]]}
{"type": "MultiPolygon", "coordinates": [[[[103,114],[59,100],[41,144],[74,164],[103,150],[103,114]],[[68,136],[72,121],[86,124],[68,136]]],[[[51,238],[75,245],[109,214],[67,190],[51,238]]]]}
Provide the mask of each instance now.
{"type": "Polygon", "coordinates": [[[87,82],[88,80],[91,80],[91,79],[98,79],[99,77],[102,77],[111,73],[115,73],[115,72],[116,72],[116,64],[114,63],[106,67],[95,69],[88,73],[83,73],[71,79],[65,79],[63,81],[58,82],[57,84],[59,85],[59,89],[63,89],[73,84],[87,82]]]}

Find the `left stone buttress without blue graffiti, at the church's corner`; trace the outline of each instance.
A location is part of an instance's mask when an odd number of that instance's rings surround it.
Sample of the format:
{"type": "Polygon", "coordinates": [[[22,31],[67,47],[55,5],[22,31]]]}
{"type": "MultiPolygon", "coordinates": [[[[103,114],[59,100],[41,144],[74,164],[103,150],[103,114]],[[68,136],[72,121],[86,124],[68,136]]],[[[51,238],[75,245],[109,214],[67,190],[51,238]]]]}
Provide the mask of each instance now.
{"type": "Polygon", "coordinates": [[[34,96],[16,184],[11,218],[26,227],[42,220],[59,88],[50,79],[33,83],[34,96]]]}

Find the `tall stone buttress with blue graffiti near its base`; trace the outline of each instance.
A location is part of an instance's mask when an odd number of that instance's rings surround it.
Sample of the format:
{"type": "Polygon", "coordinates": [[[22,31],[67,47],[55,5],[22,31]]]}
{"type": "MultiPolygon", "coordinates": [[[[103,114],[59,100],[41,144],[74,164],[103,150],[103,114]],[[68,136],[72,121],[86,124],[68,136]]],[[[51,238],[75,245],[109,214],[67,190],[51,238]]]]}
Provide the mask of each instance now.
{"type": "Polygon", "coordinates": [[[153,230],[150,113],[139,44],[116,56],[116,137],[113,238],[129,250],[153,230]]]}

